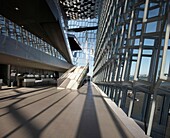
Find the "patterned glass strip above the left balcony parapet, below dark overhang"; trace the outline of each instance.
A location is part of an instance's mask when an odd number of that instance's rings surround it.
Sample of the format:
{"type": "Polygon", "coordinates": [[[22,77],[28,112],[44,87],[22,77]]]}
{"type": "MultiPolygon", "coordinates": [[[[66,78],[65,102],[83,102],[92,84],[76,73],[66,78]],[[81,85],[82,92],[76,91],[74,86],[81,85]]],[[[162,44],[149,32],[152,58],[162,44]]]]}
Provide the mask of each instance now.
{"type": "Polygon", "coordinates": [[[24,26],[19,26],[2,15],[0,15],[0,34],[9,36],[12,39],[24,43],[26,46],[33,47],[50,56],[66,61],[52,45],[25,30],[24,26]]]}

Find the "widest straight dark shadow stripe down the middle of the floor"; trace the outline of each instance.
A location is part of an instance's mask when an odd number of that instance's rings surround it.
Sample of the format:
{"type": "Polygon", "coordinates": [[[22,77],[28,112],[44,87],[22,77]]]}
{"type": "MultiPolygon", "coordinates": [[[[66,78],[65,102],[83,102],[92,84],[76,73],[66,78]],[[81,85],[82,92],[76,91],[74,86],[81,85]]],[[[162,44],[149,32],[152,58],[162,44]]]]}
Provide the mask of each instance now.
{"type": "Polygon", "coordinates": [[[76,138],[101,138],[90,82],[88,83],[87,95],[76,138]]]}

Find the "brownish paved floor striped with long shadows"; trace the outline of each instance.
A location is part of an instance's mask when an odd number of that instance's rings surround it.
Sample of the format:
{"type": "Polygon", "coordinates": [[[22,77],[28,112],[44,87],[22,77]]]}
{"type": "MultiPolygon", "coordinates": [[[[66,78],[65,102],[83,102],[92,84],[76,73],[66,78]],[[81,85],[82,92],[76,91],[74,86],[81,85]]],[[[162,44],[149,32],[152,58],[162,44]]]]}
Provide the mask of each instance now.
{"type": "Polygon", "coordinates": [[[132,138],[93,84],[0,91],[0,137],[132,138]]]}

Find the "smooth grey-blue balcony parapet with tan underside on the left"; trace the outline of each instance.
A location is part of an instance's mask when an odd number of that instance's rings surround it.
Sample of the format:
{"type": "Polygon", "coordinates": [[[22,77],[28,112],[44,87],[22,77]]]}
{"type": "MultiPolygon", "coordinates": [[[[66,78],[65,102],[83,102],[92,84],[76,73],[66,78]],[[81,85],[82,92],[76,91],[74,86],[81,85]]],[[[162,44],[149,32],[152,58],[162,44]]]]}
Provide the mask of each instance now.
{"type": "Polygon", "coordinates": [[[64,72],[73,65],[0,34],[0,58],[2,64],[13,64],[64,72]]]}

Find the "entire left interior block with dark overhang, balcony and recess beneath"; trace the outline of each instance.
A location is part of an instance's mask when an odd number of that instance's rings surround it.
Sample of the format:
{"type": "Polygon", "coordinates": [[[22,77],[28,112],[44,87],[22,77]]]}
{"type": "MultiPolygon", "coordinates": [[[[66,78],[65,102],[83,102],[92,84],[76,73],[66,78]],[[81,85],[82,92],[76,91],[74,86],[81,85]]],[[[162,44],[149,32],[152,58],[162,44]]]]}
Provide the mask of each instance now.
{"type": "Polygon", "coordinates": [[[0,85],[56,84],[72,66],[56,1],[0,1],[0,85]]]}

